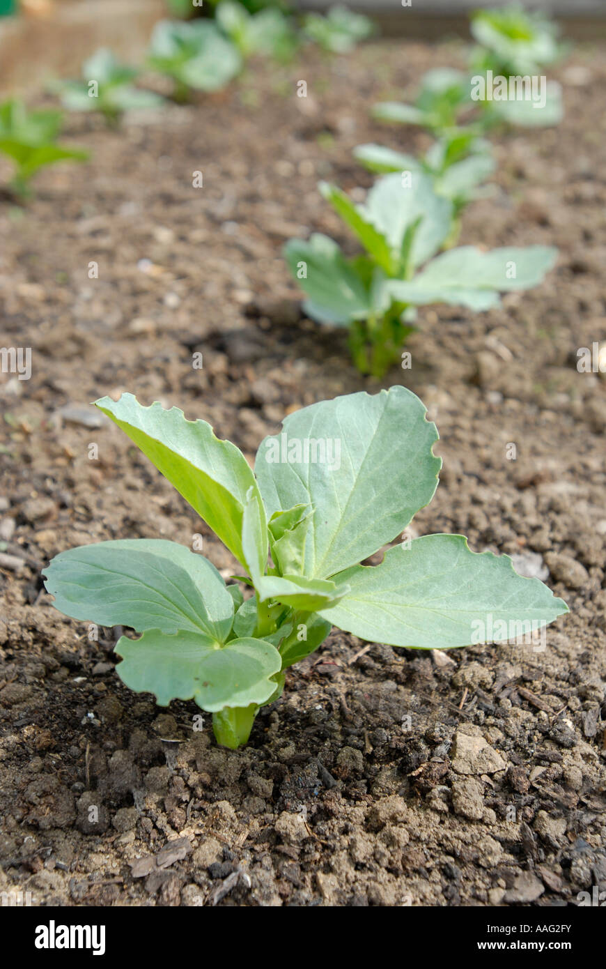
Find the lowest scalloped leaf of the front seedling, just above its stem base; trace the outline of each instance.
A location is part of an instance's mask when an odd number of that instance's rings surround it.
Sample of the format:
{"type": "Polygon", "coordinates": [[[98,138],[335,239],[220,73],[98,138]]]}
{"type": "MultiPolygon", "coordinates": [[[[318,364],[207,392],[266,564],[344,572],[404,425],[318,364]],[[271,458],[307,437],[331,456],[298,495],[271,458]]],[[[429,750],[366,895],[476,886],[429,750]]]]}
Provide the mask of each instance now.
{"type": "Polygon", "coordinates": [[[280,653],[264,640],[231,640],[216,648],[195,633],[167,636],[157,629],[140,640],[123,636],[115,651],[123,657],[116,672],[131,690],[155,694],[161,706],[195,700],[211,713],[264,703],[276,690],[271,677],[282,667],[280,653]]]}

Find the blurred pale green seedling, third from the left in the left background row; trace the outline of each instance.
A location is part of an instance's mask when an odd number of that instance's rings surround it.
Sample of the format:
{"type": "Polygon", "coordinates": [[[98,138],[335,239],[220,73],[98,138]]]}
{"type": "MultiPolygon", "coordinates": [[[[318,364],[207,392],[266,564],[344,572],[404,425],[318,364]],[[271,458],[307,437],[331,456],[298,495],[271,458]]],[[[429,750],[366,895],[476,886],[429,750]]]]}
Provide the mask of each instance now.
{"type": "Polygon", "coordinates": [[[175,101],[188,101],[192,90],[220,90],[242,67],[237,48],[209,20],[161,20],[147,59],[155,71],[172,78],[175,101]]]}

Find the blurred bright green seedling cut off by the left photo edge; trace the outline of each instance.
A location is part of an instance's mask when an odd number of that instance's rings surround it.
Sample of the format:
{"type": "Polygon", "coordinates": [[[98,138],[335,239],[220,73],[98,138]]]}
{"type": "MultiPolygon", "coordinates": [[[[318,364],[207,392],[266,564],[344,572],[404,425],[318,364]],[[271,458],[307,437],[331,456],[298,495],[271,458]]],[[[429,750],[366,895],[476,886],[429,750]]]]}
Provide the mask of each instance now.
{"type": "Polygon", "coordinates": [[[61,111],[30,111],[16,100],[0,105],[0,152],[15,162],[10,189],[24,199],[31,195],[31,177],[46,165],[83,162],[88,152],[57,144],[61,111]]]}

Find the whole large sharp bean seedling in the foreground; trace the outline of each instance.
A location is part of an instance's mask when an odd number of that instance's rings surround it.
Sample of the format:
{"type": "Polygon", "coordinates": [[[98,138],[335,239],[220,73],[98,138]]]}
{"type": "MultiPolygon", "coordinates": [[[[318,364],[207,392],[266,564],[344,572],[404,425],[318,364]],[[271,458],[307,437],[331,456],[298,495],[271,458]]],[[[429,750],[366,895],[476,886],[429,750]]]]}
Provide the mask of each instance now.
{"type": "Polygon", "coordinates": [[[176,408],[142,407],[130,393],[97,406],[225,543],[254,595],[244,600],[202,555],[155,539],[61,552],[45,569],[46,589],[66,615],[140,634],[115,647],[124,683],[161,705],[195,700],[228,747],[246,743],[285,671],[332,625],[369,641],[446,649],[473,641],[473,624],[488,615],[493,628],[512,620],[540,628],[567,611],[506,555],[473,553],[461,535],[425,536],[389,548],[378,566],[360,565],[438,485],[438,431],[403,387],[289,415],[261,442],[255,472],[208,423],[176,408]],[[339,460],[318,459],[322,441],[339,460]]]}

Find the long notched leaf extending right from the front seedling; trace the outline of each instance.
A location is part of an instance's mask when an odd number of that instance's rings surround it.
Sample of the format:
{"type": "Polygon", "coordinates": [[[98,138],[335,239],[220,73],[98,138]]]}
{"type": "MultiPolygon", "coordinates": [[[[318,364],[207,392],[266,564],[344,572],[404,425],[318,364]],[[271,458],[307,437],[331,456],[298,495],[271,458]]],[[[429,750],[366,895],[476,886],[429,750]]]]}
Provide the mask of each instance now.
{"type": "Polygon", "coordinates": [[[358,565],[335,578],[351,591],[320,615],[363,640],[393,646],[513,639],[568,611],[537,578],[518,576],[508,555],[472,552],[463,535],[414,539],[409,548],[389,548],[378,566],[358,565]]]}

